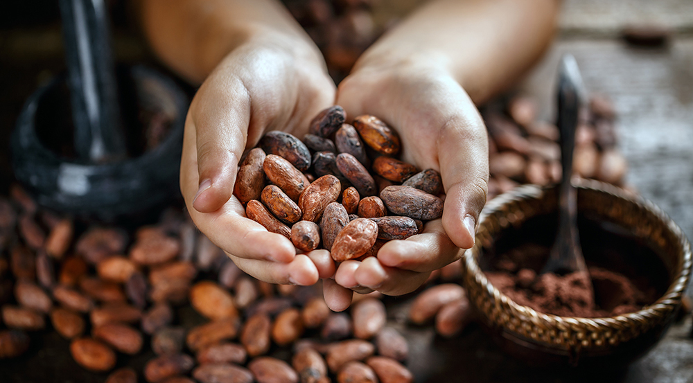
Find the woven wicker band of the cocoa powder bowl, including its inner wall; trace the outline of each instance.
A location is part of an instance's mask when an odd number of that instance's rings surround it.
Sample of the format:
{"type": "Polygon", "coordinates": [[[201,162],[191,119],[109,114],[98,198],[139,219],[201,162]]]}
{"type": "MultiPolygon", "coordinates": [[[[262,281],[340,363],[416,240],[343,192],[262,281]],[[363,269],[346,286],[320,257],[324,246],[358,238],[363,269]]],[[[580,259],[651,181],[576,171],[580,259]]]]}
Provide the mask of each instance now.
{"type": "Polygon", "coordinates": [[[579,211],[596,213],[602,220],[631,229],[663,250],[663,262],[672,282],[656,302],[617,317],[559,317],[519,305],[489,283],[477,263],[482,247],[490,247],[503,229],[556,211],[556,189],[525,185],[489,202],[480,217],[475,246],[466,251],[463,261],[464,285],[487,324],[520,339],[570,353],[617,346],[667,321],[681,303],[692,266],[690,242],[659,208],[598,181],[581,180],[576,186],[579,211]]]}

